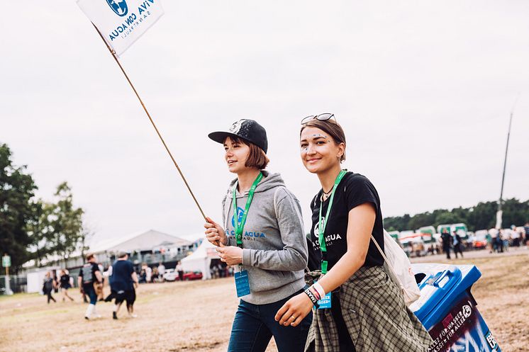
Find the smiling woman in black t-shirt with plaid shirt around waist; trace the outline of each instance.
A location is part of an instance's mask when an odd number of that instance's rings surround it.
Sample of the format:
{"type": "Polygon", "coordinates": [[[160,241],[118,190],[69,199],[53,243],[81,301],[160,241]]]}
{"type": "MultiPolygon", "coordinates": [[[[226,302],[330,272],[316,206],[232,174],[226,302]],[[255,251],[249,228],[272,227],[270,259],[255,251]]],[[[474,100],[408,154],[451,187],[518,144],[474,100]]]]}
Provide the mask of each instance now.
{"type": "Polygon", "coordinates": [[[345,133],[333,118],[308,116],[300,135],[301,160],[322,186],[311,201],[312,250],[321,255],[321,275],[286,302],[276,320],[296,326],[330,293],[330,308],[313,315],[305,351],[427,351],[430,335],[406,307],[371,241],[372,235],[384,249],[377,190],[366,177],[342,170],[345,133]]]}

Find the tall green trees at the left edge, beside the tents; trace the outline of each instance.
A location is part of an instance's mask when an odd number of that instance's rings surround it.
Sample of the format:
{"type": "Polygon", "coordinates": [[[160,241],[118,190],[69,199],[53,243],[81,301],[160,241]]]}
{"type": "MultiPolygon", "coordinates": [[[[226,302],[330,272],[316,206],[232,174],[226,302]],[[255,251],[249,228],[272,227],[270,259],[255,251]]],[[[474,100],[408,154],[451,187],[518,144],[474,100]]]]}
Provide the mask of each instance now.
{"type": "Polygon", "coordinates": [[[11,256],[15,273],[32,259],[38,266],[51,256],[67,259],[87,241],[84,211],[74,206],[68,184],[57,186],[53,201],[35,198],[37,189],[27,166],[14,165],[0,144],[0,255],[11,256]]]}

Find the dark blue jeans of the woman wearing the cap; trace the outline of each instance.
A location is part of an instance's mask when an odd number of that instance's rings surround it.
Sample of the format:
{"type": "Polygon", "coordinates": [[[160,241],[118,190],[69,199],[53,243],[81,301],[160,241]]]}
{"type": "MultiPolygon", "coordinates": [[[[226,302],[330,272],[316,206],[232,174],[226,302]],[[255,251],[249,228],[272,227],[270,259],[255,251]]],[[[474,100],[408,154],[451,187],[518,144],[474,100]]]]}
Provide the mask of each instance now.
{"type": "Polygon", "coordinates": [[[297,327],[284,327],[274,320],[279,308],[294,295],[267,305],[252,305],[240,300],[228,352],[265,352],[272,336],[279,352],[303,352],[312,312],[297,327]]]}

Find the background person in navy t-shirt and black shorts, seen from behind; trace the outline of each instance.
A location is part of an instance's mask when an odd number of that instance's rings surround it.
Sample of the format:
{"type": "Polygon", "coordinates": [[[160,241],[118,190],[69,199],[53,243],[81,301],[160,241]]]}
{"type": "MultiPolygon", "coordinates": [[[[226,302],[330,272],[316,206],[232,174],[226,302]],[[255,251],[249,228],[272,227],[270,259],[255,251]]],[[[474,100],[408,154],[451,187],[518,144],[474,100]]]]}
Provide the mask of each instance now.
{"type": "Polygon", "coordinates": [[[123,301],[127,303],[129,317],[137,317],[134,314],[134,301],[138,288],[138,275],[134,271],[133,263],[128,260],[128,254],[124,251],[118,253],[118,260],[112,265],[112,276],[110,279],[113,296],[116,297],[116,305],[112,312],[112,318],[118,319],[118,312],[123,301]]]}

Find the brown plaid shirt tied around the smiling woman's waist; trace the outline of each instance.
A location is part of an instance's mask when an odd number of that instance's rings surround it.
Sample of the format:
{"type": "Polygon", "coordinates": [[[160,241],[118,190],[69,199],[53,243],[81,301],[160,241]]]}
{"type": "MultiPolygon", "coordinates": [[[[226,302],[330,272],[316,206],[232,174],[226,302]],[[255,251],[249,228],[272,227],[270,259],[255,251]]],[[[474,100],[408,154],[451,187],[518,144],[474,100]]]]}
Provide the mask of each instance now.
{"type": "MultiPolygon", "coordinates": [[[[317,277],[317,273],[309,273],[307,281],[317,277]]],[[[340,286],[338,294],[357,352],[428,351],[433,342],[430,334],[406,306],[401,290],[382,266],[360,268],[340,286]]],[[[305,351],[343,352],[330,310],[314,312],[305,351]]]]}

